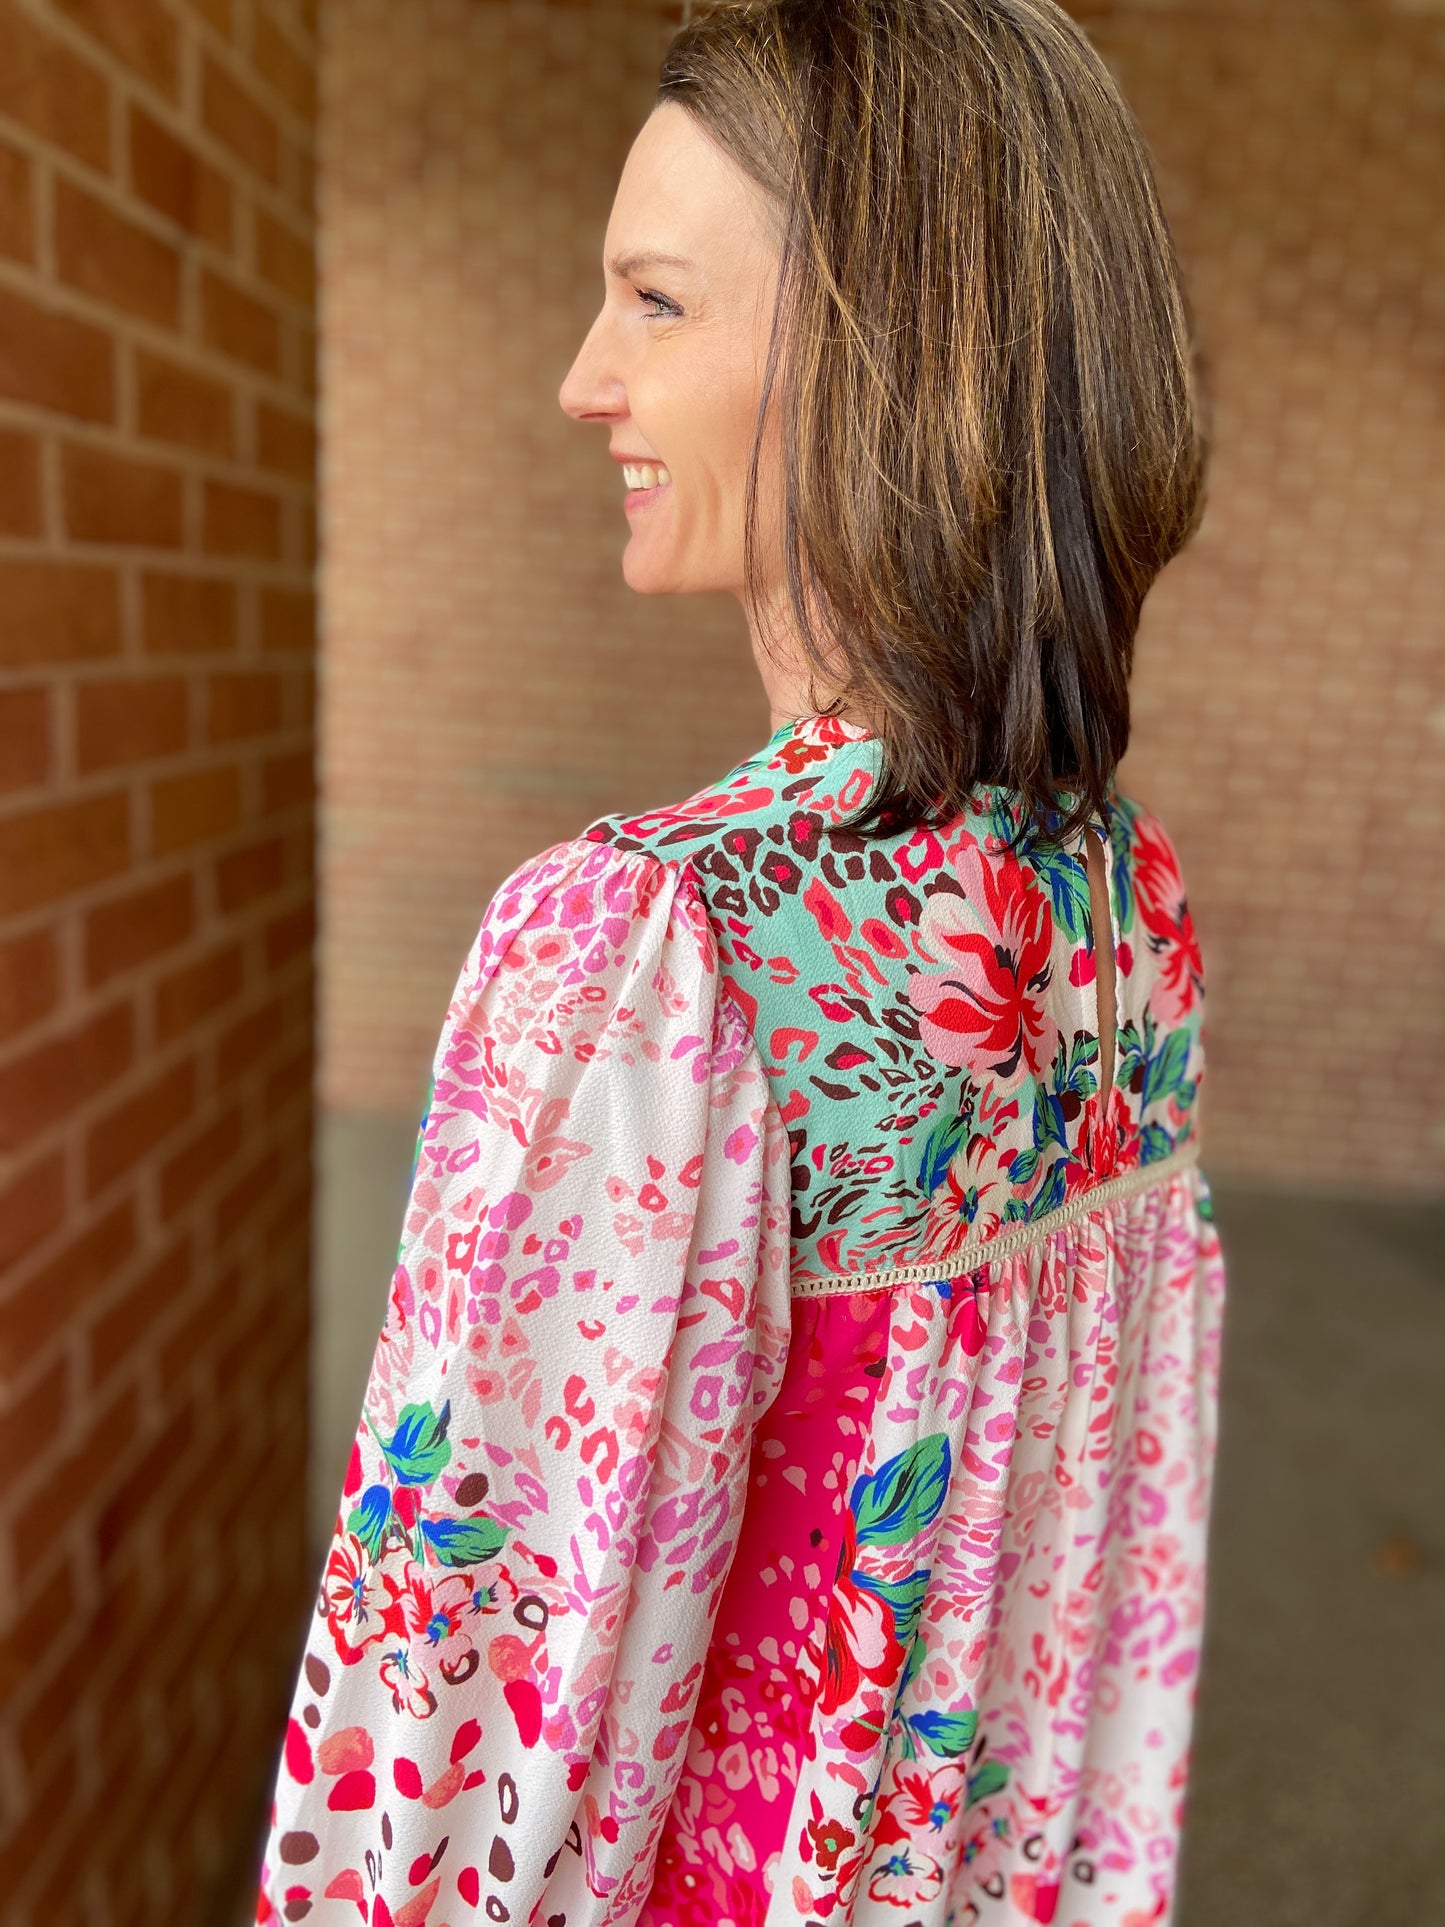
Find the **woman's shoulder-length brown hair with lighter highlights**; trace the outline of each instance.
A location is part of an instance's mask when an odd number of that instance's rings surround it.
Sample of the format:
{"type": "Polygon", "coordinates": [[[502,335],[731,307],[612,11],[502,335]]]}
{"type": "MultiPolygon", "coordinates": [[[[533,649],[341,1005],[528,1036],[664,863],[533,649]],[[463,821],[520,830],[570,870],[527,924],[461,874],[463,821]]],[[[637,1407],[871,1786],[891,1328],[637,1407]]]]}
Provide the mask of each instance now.
{"type": "Polygon", "coordinates": [[[850,827],[944,821],[994,782],[1025,831],[1073,832],[1129,742],[1139,609],[1206,461],[1173,241],[1108,67],[1052,0],[721,0],[672,39],[663,102],[776,216],[746,572],[757,601],[776,389],[803,653],[882,740],[850,827]]]}

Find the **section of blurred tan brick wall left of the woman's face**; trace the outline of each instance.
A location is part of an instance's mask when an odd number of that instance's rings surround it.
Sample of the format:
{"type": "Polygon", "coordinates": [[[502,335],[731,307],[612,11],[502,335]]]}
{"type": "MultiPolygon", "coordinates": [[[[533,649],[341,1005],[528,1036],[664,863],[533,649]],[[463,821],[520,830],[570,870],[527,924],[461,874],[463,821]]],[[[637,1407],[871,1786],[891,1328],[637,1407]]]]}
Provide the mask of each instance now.
{"type": "Polygon", "coordinates": [[[669,31],[644,6],[328,12],[322,1083],[341,1110],[420,1108],[514,863],[767,736],[736,603],[626,588],[607,434],[557,405],[669,31]]]}

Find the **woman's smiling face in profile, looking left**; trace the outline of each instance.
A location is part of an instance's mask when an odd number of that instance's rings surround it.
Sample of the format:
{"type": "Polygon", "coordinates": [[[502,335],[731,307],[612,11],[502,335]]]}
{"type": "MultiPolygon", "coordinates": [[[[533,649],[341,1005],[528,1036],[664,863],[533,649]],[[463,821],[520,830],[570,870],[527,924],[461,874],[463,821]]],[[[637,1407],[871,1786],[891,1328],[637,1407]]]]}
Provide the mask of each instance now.
{"type": "MultiPolygon", "coordinates": [[[[761,189],[672,102],[632,143],[603,274],[601,312],[557,399],[574,420],[607,424],[618,495],[624,474],[647,484],[622,503],[622,576],[644,595],[728,590],[744,601],[744,488],[778,243],[761,189]]],[[[769,455],[763,530],[776,522],[769,455]]],[[[769,584],[775,549],[763,543],[769,584]]]]}

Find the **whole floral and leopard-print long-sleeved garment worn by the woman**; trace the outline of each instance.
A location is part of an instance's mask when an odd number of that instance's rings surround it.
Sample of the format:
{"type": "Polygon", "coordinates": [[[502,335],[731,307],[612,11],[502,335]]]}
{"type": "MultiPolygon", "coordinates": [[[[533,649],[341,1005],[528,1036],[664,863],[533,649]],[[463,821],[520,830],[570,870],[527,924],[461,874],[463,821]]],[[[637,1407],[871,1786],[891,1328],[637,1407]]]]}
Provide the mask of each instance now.
{"type": "Polygon", "coordinates": [[[1185,888],[1117,790],[863,838],[879,748],[786,725],[487,906],[258,1921],[1168,1921],[1223,1307],[1185,888]]]}

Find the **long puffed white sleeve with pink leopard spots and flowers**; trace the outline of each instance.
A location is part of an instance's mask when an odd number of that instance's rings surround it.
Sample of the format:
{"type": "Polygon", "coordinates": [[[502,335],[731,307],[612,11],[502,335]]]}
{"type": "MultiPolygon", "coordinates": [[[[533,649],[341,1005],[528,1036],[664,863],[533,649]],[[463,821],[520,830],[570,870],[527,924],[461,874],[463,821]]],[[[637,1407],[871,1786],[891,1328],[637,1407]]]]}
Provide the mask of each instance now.
{"type": "Polygon", "coordinates": [[[626,1923],[788,1347],[788,1145],[686,863],[487,906],[291,1705],[258,1921],[626,1923]]]}

